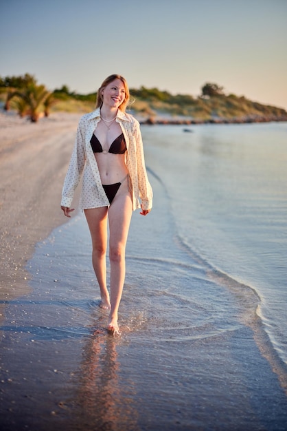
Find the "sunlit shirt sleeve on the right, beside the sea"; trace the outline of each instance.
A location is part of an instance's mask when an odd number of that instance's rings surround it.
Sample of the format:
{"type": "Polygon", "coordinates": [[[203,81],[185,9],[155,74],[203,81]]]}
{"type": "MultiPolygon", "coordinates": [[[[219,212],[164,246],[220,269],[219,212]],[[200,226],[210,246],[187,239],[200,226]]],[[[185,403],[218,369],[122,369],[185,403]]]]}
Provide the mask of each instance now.
{"type": "Polygon", "coordinates": [[[141,138],[141,130],[139,122],[135,121],[134,136],[137,146],[137,180],[139,185],[139,198],[141,199],[142,209],[152,209],[152,187],[146,173],[146,164],[143,154],[143,141],[141,138]]]}

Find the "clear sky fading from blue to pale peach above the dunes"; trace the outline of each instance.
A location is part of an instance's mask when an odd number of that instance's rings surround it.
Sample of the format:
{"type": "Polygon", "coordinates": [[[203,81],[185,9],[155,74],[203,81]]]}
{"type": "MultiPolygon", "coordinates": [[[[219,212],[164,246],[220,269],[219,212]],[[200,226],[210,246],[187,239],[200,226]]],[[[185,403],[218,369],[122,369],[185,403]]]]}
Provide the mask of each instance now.
{"type": "Polygon", "coordinates": [[[227,94],[287,109],[287,0],[0,0],[0,76],[95,92],[227,94]]]}

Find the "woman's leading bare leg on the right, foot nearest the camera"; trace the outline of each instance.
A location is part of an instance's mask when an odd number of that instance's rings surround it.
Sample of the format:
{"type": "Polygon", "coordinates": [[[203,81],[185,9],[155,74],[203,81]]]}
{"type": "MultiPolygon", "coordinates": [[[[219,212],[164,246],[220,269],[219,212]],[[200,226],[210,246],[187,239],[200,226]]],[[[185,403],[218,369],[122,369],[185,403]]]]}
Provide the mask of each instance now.
{"type": "Polygon", "coordinates": [[[110,227],[109,257],[111,262],[111,312],[108,330],[117,332],[117,312],[126,275],[126,241],[132,215],[132,201],[126,183],[122,184],[108,209],[110,227]]]}

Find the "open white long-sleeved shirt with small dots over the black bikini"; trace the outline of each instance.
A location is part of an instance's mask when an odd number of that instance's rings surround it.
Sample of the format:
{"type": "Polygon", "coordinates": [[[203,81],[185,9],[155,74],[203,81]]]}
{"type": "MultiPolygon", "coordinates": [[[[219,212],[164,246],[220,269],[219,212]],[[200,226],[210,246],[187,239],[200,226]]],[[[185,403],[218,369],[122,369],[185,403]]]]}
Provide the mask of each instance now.
{"type": "MultiPolygon", "coordinates": [[[[81,177],[80,209],[107,207],[109,205],[90,144],[91,136],[99,121],[100,108],[80,118],[76,143],[62,188],[62,207],[71,207],[81,177]]],[[[151,209],[152,187],[146,174],[139,122],[130,114],[119,110],[116,121],[122,128],[126,140],[125,159],[130,177],[133,210],[141,206],[142,209],[151,209]]]]}

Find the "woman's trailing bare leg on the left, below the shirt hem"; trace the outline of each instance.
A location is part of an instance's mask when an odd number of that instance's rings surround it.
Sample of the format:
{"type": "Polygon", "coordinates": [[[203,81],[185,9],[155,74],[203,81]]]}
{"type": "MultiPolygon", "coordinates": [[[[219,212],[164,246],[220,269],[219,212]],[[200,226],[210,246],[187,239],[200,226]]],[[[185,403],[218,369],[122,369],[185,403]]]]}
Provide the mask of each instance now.
{"type": "Polygon", "coordinates": [[[111,308],[110,295],[106,287],[106,246],[108,207],[85,209],[93,246],[92,262],[100,286],[100,307],[111,308]]]}

